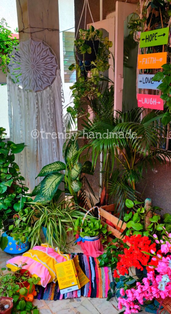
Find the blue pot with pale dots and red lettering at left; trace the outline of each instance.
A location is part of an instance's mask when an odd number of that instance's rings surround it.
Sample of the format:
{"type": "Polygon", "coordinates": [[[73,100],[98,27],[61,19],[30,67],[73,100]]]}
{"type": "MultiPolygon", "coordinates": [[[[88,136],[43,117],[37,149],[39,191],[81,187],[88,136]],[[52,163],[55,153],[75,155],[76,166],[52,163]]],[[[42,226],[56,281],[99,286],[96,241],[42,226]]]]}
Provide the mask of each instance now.
{"type": "Polygon", "coordinates": [[[17,243],[16,240],[14,240],[13,237],[8,236],[6,232],[2,234],[2,237],[6,237],[8,239],[8,244],[6,248],[4,249],[4,252],[9,254],[21,254],[25,251],[29,250],[29,242],[27,240],[25,242],[19,242],[17,243]]]}

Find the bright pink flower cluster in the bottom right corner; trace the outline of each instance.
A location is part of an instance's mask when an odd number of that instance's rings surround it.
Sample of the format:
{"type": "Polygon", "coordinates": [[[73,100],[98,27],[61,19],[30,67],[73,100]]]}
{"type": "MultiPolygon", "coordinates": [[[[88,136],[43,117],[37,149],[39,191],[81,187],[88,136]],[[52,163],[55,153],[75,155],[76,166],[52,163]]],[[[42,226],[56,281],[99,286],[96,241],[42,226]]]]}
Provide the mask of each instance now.
{"type": "Polygon", "coordinates": [[[147,269],[147,278],[142,279],[142,284],[140,282],[136,283],[136,289],[132,288],[129,290],[120,290],[121,296],[126,298],[118,298],[118,308],[121,310],[123,306],[126,307],[124,311],[125,314],[138,313],[141,308],[140,306],[144,304],[144,300],[152,300],[154,297],[165,299],[167,296],[171,297],[171,233],[167,236],[163,236],[163,240],[158,240],[157,236],[154,235],[156,243],[161,243],[162,254],[167,254],[167,256],[162,256],[160,254],[151,251],[153,257],[152,261],[158,261],[158,265],[149,266],[147,269]]]}

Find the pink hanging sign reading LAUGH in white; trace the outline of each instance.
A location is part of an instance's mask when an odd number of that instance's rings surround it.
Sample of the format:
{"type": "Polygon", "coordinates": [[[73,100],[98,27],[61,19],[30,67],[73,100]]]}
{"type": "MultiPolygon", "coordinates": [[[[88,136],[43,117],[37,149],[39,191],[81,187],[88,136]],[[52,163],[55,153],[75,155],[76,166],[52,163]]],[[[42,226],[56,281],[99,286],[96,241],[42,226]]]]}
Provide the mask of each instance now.
{"type": "Polygon", "coordinates": [[[160,95],[137,94],[138,107],[163,110],[163,100],[160,95]]]}

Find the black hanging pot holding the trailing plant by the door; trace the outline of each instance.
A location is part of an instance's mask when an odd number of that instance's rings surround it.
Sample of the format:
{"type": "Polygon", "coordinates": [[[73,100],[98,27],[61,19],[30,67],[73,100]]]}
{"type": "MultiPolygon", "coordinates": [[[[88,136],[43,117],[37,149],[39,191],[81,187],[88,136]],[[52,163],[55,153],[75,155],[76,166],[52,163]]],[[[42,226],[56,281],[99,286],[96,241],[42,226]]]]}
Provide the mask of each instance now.
{"type": "Polygon", "coordinates": [[[99,49],[99,40],[86,40],[85,44],[91,47],[91,53],[81,54],[76,49],[76,55],[79,61],[94,61],[97,57],[98,49],[99,49]]]}

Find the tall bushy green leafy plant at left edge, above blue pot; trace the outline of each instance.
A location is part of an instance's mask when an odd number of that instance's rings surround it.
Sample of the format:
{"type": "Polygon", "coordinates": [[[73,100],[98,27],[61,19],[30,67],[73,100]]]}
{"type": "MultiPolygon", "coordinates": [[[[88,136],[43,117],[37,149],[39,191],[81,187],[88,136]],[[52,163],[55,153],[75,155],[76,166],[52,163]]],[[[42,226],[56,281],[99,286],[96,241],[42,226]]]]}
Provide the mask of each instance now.
{"type": "Polygon", "coordinates": [[[28,188],[23,183],[19,166],[14,162],[15,154],[20,153],[25,145],[6,141],[5,135],[5,129],[0,127],[0,229],[4,227],[8,230],[13,215],[27,207],[28,188]]]}

